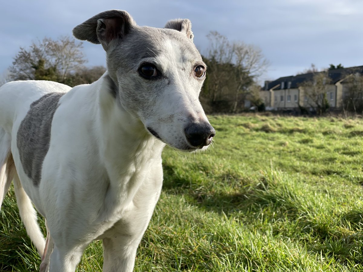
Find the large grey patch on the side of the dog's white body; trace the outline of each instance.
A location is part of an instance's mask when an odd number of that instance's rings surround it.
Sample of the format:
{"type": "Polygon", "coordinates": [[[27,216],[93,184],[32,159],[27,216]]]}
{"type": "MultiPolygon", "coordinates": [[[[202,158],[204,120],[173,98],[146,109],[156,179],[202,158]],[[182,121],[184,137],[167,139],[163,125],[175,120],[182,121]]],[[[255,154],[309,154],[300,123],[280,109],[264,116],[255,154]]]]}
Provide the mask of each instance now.
{"type": "Polygon", "coordinates": [[[16,135],[21,164],[34,186],[40,183],[43,161],[49,149],[53,115],[64,94],[52,92],[34,101],[16,135]]]}

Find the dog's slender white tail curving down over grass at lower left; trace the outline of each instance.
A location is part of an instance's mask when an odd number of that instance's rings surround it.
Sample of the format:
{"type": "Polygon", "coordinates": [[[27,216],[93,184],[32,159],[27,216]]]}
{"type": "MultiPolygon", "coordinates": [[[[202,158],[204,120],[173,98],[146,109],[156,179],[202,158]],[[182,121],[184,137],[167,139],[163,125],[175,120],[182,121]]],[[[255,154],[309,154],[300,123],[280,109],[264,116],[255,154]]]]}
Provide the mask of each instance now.
{"type": "Polygon", "coordinates": [[[33,204],[28,195],[25,193],[23,186],[21,186],[17,173],[14,175],[14,191],[19,207],[20,217],[25,225],[26,232],[28,233],[30,240],[34,243],[34,246],[37,248],[39,255],[42,256],[45,247],[44,236],[40,231],[37,222],[37,214],[33,204]]]}

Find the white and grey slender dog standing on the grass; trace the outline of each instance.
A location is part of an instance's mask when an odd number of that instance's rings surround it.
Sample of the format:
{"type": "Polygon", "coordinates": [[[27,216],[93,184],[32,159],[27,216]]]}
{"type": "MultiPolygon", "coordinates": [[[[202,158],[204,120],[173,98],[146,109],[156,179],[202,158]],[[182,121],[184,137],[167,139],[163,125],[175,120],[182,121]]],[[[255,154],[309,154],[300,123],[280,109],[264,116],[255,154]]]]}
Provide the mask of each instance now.
{"type": "Polygon", "coordinates": [[[74,271],[99,239],[103,271],[132,271],[160,195],[163,147],[203,150],[215,135],[198,99],[206,66],[187,19],[151,28],[111,10],[73,34],[105,49],[98,81],[0,88],[0,205],[13,180],[41,271],[74,271]]]}

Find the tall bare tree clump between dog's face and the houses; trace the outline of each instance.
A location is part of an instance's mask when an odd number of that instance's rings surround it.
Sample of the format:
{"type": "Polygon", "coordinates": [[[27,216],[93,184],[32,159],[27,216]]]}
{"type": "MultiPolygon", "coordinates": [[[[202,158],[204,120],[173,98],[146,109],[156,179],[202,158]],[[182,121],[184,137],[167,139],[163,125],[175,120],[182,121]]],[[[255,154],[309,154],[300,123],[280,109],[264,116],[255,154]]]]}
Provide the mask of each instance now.
{"type": "Polygon", "coordinates": [[[261,49],[254,45],[229,42],[216,31],[207,37],[207,87],[204,87],[202,96],[209,96],[214,110],[228,107],[229,112],[237,112],[238,104],[248,94],[248,86],[263,73],[268,61],[261,49]]]}

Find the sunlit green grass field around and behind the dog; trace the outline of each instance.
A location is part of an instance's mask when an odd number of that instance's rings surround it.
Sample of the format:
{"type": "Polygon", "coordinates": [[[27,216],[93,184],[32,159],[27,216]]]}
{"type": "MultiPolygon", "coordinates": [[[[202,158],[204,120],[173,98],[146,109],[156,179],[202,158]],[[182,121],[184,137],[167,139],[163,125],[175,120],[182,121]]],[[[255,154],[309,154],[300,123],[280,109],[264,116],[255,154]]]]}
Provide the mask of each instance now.
{"type": "MultiPolygon", "coordinates": [[[[363,271],[363,120],[213,116],[214,147],[166,148],[134,271],[363,271]]],[[[37,271],[13,192],[0,271],[37,271]]],[[[101,271],[91,244],[78,271],[101,271]]]]}

